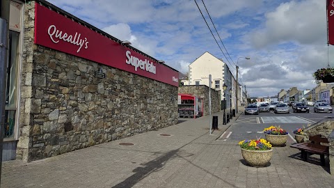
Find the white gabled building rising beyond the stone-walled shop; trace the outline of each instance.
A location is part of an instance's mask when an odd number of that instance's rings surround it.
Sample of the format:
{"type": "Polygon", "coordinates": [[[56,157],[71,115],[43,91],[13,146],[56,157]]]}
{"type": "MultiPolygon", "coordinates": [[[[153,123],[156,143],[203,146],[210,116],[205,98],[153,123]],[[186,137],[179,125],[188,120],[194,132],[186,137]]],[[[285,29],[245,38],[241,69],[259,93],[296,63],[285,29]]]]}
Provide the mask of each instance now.
{"type": "MultiPolygon", "coordinates": [[[[222,91],[221,100],[226,99],[226,107],[231,107],[232,100],[232,108],[234,108],[236,81],[228,65],[209,52],[205,52],[189,65],[189,85],[209,86],[209,75],[212,75],[212,88],[222,91]],[[228,86],[225,92],[223,91],[224,83],[228,86]],[[229,92],[230,88],[232,88],[232,93],[229,92]],[[231,97],[231,95],[233,97],[231,97]]],[[[184,83],[184,85],[186,85],[186,83],[184,83]]]]}

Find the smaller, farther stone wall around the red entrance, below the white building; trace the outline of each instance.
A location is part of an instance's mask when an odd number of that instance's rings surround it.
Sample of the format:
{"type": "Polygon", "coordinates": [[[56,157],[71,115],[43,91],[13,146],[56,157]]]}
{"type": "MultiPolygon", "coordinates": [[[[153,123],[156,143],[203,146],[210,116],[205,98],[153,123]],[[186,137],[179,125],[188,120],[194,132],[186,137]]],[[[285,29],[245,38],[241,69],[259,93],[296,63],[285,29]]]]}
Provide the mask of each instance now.
{"type": "MultiPolygon", "coordinates": [[[[198,86],[180,86],[179,93],[185,93],[193,96],[202,97],[205,100],[204,116],[209,115],[209,87],[205,85],[198,86]]],[[[211,89],[211,112],[221,111],[221,91],[211,89]]]]}

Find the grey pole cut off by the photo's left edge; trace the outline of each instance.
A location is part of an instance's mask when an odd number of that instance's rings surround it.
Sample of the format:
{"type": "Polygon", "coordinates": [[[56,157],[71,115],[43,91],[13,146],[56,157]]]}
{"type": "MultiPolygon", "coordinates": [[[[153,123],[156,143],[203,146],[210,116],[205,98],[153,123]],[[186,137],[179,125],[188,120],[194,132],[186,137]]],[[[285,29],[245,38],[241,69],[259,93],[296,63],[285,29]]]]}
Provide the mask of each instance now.
{"type": "Polygon", "coordinates": [[[0,1],[0,184],[3,151],[3,128],[5,127],[5,104],[6,104],[6,68],[8,57],[9,36],[9,0],[0,1]]]}

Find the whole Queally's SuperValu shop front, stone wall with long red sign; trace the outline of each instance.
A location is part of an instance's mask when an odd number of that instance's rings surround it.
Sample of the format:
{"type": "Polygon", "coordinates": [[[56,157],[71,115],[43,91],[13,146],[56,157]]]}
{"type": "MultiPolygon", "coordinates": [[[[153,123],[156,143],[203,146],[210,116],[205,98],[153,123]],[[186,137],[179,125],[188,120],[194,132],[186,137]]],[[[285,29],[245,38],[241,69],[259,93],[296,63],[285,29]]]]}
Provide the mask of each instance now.
{"type": "Polygon", "coordinates": [[[6,91],[14,158],[30,162],[177,123],[177,70],[46,1],[12,4],[10,20],[19,13],[22,28],[10,29],[6,91]]]}

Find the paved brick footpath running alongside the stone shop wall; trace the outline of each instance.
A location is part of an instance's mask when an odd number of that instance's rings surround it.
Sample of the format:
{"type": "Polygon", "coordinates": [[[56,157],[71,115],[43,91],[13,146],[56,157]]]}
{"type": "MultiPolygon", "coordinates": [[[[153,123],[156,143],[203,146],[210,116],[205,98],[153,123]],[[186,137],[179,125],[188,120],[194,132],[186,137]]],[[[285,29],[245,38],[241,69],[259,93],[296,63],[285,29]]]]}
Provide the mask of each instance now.
{"type": "Polygon", "coordinates": [[[296,159],[289,146],[273,148],[270,166],[247,166],[238,141],[216,140],[236,119],[221,125],[222,114],[213,114],[212,135],[205,116],[31,163],[3,162],[1,187],[334,187],[328,166],[296,159]]]}

